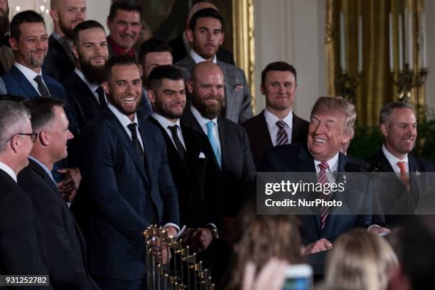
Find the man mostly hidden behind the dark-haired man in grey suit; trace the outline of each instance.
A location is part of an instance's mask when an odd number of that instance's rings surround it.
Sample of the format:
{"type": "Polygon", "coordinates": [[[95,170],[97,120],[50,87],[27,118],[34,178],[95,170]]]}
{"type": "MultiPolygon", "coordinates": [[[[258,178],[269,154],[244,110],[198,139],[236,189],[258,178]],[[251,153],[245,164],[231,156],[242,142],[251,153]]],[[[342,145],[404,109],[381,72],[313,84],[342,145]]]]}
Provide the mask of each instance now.
{"type": "MultiPolygon", "coordinates": [[[[218,7],[211,2],[201,1],[192,6],[189,11],[188,18],[186,20],[186,28],[190,26],[190,19],[196,11],[205,9],[205,8],[213,8],[216,11],[219,11],[218,7]]],[[[169,41],[169,45],[172,48],[173,62],[178,63],[178,61],[186,58],[186,56],[190,53],[190,43],[186,38],[186,30],[183,32],[181,36],[174,38],[172,41],[169,41]]],[[[230,65],[235,65],[234,58],[232,57],[232,53],[226,50],[225,48],[220,47],[218,51],[216,51],[216,58],[218,60],[223,61],[224,63],[229,63],[230,65]]]]}

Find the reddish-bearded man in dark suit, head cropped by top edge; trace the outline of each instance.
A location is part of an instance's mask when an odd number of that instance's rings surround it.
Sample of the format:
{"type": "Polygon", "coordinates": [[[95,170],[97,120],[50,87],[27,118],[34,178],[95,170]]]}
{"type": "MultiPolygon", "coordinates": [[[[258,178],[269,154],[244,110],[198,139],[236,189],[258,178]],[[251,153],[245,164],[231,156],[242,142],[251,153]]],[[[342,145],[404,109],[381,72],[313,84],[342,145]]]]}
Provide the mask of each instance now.
{"type": "Polygon", "coordinates": [[[85,0],[50,1],[50,16],[54,31],[48,38],[48,53],[43,63],[45,75],[63,82],[75,68],[73,56],[73,30],[78,23],[85,21],[85,0]]]}

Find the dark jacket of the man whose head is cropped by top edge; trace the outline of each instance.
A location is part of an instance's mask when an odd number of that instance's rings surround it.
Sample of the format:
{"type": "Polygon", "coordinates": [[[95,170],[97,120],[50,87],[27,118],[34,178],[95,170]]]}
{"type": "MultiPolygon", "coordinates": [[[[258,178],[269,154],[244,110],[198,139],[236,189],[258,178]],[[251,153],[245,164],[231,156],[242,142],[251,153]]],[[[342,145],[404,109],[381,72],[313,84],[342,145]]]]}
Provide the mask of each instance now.
{"type": "Polygon", "coordinates": [[[74,68],[75,63],[68,57],[63,46],[52,34],[48,38],[48,53],[42,66],[43,72],[58,82],[63,82],[73,73],[74,68]]]}

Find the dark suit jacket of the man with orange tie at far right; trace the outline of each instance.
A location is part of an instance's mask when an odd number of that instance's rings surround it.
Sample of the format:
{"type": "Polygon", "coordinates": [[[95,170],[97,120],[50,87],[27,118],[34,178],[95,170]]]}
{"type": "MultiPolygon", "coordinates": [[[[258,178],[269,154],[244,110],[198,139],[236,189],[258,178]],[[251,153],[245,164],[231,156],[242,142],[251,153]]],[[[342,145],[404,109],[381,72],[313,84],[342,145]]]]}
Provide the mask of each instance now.
{"type": "MultiPolygon", "coordinates": [[[[377,151],[373,156],[367,159],[370,165],[375,166],[383,172],[394,172],[387,157],[382,150],[377,151]]],[[[421,159],[414,154],[408,154],[409,173],[417,172],[435,172],[434,166],[428,161],[421,159]]],[[[402,225],[409,215],[413,215],[417,207],[424,203],[424,195],[429,193],[430,188],[434,190],[434,175],[410,174],[410,190],[404,186],[396,174],[382,178],[382,182],[377,186],[382,210],[385,213],[385,222],[388,226],[402,225]]],[[[431,192],[431,195],[434,193],[431,192]]],[[[432,203],[433,204],[433,203],[432,203]]],[[[382,217],[376,215],[375,222],[382,223],[382,217]]]]}

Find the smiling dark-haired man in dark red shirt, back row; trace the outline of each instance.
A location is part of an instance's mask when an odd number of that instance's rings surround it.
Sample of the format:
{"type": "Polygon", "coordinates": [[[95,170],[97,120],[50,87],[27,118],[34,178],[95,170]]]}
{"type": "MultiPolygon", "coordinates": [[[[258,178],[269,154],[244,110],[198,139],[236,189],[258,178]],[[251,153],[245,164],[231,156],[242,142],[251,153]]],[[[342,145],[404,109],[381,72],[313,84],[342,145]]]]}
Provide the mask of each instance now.
{"type": "Polygon", "coordinates": [[[106,23],[110,31],[107,36],[109,56],[129,55],[137,60],[134,43],[142,27],[141,10],[141,5],[134,0],[118,0],[110,6],[106,23]]]}

